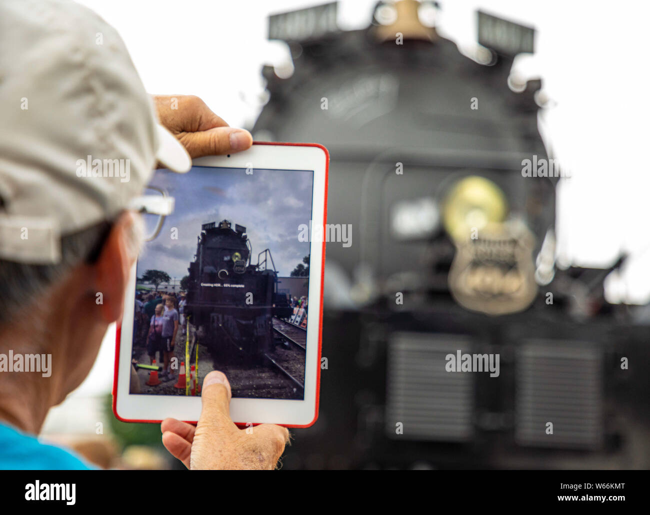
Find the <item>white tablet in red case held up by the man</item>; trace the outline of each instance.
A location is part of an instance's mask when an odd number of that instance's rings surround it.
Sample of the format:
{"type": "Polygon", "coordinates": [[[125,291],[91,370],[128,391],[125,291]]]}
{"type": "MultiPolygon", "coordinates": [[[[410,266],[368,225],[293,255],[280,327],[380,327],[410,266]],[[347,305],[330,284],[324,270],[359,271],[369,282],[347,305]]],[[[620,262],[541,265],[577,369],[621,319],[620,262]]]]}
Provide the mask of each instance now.
{"type": "Polygon", "coordinates": [[[117,333],[118,419],[196,422],[221,370],[235,423],[315,422],[328,161],[321,145],[255,142],[155,172],[117,333]]]}

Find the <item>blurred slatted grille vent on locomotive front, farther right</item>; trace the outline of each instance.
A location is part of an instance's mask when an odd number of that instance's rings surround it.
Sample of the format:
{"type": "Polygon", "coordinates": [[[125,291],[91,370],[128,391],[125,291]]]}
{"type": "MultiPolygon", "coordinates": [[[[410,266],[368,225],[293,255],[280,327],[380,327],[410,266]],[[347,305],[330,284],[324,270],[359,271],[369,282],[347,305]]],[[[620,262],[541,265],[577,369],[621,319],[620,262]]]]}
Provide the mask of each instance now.
{"type": "Polygon", "coordinates": [[[601,351],[580,342],[524,342],[517,349],[517,444],[601,447],[602,365],[601,351]],[[547,434],[549,422],[552,434],[547,434]]]}

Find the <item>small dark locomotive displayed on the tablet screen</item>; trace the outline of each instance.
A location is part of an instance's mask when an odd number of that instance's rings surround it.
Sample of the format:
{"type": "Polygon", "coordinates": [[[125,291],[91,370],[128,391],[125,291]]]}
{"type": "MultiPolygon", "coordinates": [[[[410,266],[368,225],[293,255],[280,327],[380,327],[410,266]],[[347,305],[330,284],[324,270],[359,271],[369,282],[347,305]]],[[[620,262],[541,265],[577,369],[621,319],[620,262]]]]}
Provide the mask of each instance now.
{"type": "Polygon", "coordinates": [[[228,220],[203,223],[196,255],[188,268],[187,314],[200,342],[211,350],[261,355],[273,343],[272,318],[291,315],[278,294],[278,273],[269,249],[251,263],[246,227],[228,220]]]}

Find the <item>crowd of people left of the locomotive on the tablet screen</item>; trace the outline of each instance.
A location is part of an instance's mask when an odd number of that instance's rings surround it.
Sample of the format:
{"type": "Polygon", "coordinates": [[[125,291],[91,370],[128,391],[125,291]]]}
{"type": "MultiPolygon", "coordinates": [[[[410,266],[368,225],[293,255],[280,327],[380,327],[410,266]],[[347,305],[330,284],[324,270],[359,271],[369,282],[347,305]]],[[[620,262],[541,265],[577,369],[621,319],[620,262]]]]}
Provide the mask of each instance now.
{"type": "Polygon", "coordinates": [[[153,364],[156,355],[162,364],[161,379],[173,379],[171,367],[174,344],[180,329],[185,334],[185,305],[187,299],[181,292],[138,292],[135,295],[133,321],[133,357],[138,358],[144,347],[153,364]]]}

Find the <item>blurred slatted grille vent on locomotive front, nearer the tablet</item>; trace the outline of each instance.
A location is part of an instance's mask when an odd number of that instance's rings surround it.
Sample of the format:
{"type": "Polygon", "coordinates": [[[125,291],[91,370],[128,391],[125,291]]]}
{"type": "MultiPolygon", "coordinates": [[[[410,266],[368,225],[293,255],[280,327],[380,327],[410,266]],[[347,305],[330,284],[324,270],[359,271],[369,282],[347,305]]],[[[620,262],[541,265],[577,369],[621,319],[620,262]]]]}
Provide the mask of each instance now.
{"type": "Polygon", "coordinates": [[[387,356],[386,434],[390,438],[465,442],[473,437],[474,374],[447,372],[445,356],[471,353],[468,338],[395,333],[387,356]],[[396,433],[402,423],[403,434],[396,433]]]}

